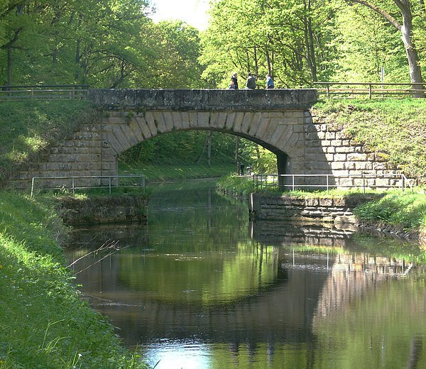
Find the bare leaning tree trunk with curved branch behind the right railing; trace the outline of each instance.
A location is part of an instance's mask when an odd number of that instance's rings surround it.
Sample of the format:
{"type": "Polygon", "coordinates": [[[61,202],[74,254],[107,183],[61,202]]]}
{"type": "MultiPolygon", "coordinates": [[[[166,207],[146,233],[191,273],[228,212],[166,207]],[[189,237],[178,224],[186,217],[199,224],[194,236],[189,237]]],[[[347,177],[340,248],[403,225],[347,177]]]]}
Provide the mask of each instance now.
{"type": "Polygon", "coordinates": [[[363,6],[368,7],[372,11],[380,14],[383,18],[391,23],[396,30],[400,31],[401,38],[405,47],[405,52],[407,53],[408,66],[410,67],[410,80],[412,83],[419,83],[419,85],[414,84],[413,89],[415,90],[415,97],[423,97],[424,92],[418,91],[422,90],[423,82],[422,79],[422,70],[420,68],[420,57],[415,48],[415,42],[413,39],[413,6],[410,0],[393,0],[395,5],[400,11],[400,16],[402,17],[402,23],[398,22],[392,15],[390,11],[387,11],[383,7],[376,6],[376,4],[371,3],[370,1],[364,0],[346,0],[348,3],[357,3],[363,6]]]}

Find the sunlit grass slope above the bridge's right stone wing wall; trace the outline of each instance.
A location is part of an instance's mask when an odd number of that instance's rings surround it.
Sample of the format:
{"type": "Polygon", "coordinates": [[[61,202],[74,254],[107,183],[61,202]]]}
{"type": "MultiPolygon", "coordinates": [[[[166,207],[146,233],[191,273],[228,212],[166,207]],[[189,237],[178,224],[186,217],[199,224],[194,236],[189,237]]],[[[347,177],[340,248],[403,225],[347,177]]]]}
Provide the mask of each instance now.
{"type": "Polygon", "coordinates": [[[329,100],[312,112],[426,183],[426,99],[329,100]]]}

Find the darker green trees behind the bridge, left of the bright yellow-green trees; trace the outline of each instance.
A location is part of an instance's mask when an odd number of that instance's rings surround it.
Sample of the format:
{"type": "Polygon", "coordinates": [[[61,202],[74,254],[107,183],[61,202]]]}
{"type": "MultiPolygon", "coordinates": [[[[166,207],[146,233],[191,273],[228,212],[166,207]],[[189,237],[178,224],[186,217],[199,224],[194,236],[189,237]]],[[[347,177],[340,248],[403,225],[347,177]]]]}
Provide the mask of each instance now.
{"type": "Polygon", "coordinates": [[[0,84],[201,87],[198,31],[150,11],[146,0],[3,1],[0,84]]]}

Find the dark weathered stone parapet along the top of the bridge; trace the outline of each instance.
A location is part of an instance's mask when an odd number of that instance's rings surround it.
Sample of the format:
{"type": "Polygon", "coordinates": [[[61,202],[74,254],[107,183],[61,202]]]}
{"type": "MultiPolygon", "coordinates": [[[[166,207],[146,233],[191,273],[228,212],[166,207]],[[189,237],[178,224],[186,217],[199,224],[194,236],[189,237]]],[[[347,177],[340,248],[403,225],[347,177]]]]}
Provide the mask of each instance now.
{"type": "Polygon", "coordinates": [[[264,111],[310,109],[315,89],[89,89],[102,109],[171,111],[264,111]]]}

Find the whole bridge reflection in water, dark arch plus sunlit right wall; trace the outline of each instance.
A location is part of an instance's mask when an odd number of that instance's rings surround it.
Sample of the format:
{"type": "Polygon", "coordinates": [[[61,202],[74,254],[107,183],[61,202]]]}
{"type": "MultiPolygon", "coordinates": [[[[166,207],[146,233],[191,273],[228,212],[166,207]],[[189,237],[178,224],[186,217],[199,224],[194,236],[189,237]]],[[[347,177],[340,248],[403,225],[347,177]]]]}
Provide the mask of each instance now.
{"type": "MultiPolygon", "coordinates": [[[[353,242],[351,231],[280,225],[273,227],[271,234],[265,228],[263,233],[256,233],[258,229],[252,228],[253,253],[268,253],[268,258],[273,258],[269,265],[276,268],[275,280],[226,304],[189,306],[131,290],[121,276],[124,266],[119,255],[93,265],[79,282],[94,307],[120,326],[125,341],[192,337],[208,343],[228,343],[230,351],[238,351],[243,344],[251,351],[267,343],[268,351],[273,353],[278,343],[307,343],[313,348],[312,319],[317,312],[344,309],[363,290],[380,280],[403,275],[410,268],[405,260],[345,252],[353,242]],[[320,252],[313,246],[324,249],[320,252]],[[124,292],[116,294],[117,290],[124,292]]],[[[125,232],[133,234],[131,227],[125,232]]],[[[136,233],[132,243],[143,250],[146,234],[141,236],[140,229],[136,233]]],[[[106,236],[114,238],[113,234],[106,236]]],[[[93,238],[93,231],[87,233],[87,238],[93,238]]],[[[93,260],[83,263],[89,265],[93,260]]]]}

